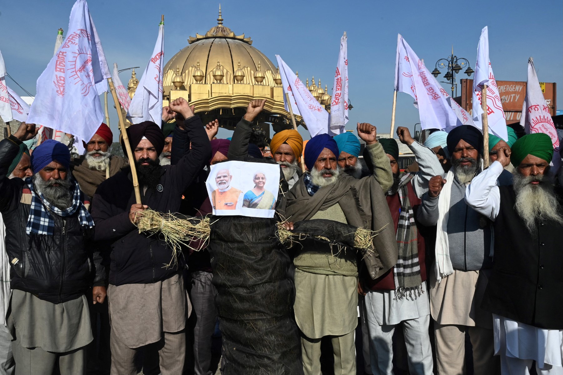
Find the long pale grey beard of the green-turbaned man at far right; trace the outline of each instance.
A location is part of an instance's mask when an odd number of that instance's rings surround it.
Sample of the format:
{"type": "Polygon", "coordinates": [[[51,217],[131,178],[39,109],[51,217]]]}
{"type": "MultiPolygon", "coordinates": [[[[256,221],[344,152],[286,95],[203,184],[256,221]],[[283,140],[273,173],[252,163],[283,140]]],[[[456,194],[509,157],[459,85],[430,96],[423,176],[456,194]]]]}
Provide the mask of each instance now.
{"type": "Polygon", "coordinates": [[[547,172],[546,168],[544,175],[524,176],[516,171],[513,176],[512,186],[516,193],[514,208],[532,234],[535,233],[537,220],[553,220],[563,224],[561,207],[553,193],[552,178],[547,176],[547,172]],[[539,181],[539,184],[530,184],[532,181],[539,181]]]}

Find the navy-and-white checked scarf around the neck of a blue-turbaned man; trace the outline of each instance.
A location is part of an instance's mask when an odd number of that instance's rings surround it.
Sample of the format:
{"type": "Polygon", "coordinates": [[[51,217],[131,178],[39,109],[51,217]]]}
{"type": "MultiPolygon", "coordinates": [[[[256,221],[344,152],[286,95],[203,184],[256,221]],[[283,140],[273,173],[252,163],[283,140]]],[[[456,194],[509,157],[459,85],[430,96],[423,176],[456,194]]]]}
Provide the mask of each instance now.
{"type": "Polygon", "coordinates": [[[62,217],[73,215],[78,210],[78,220],[81,225],[87,225],[92,228],[94,226],[94,221],[90,212],[84,207],[82,193],[78,182],[74,180],[74,191],[73,191],[73,203],[67,209],[60,209],[53,206],[46,199],[44,199],[43,194],[35,192],[35,186],[33,185],[32,177],[25,179],[26,184],[28,184],[29,189],[32,191],[32,204],[29,209],[28,224],[25,227],[25,233],[29,234],[46,234],[53,235],[53,228],[55,227],[55,221],[48,211],[52,211],[55,215],[62,217]]]}

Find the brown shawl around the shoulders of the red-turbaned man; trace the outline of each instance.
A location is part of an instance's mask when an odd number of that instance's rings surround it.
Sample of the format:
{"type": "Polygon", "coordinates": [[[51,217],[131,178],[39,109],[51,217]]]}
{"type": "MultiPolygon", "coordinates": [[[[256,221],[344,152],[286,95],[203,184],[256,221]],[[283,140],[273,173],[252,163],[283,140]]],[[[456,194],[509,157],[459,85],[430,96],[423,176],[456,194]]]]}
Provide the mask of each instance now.
{"type": "MultiPolygon", "coordinates": [[[[127,159],[111,155],[109,162],[109,175],[110,177],[119,172],[121,168],[128,166],[127,159]]],[[[93,197],[98,186],[105,181],[105,170],[98,171],[97,169],[90,169],[88,162],[84,157],[74,158],[70,163],[72,174],[78,181],[80,189],[88,197],[93,197]]]]}

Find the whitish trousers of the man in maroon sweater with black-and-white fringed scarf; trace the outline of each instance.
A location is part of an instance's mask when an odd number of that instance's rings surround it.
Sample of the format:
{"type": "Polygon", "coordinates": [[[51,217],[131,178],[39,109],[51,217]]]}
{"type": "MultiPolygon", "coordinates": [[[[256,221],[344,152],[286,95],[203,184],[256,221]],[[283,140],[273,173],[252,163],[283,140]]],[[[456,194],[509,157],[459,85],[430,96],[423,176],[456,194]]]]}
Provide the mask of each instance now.
{"type": "MultiPolygon", "coordinates": [[[[393,333],[397,325],[369,323],[369,336],[372,341],[370,356],[373,375],[393,375],[393,333]]],[[[401,322],[408,353],[409,373],[413,375],[432,375],[432,348],[428,337],[430,315],[401,322]]],[[[399,325],[400,327],[400,325],[399,325]]],[[[477,373],[476,373],[477,374],[477,373]]]]}

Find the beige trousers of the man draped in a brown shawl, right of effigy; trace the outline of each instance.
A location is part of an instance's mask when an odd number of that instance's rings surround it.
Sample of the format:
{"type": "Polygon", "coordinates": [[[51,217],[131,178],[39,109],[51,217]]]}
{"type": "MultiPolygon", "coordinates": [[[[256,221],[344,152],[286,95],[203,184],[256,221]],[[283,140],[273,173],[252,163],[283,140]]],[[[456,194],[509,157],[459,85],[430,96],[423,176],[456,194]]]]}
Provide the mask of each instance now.
{"type": "MultiPolygon", "coordinates": [[[[334,351],[334,375],[356,375],[356,347],[354,332],[344,336],[330,336],[334,351]]],[[[305,375],[319,375],[320,338],[301,334],[301,359],[305,375]]]]}

